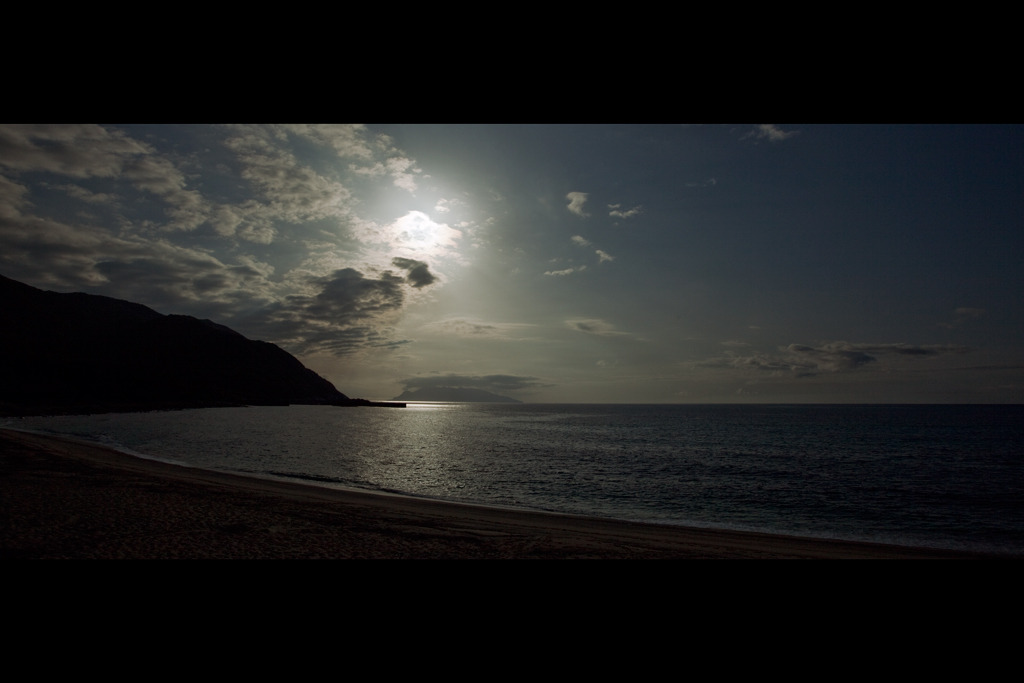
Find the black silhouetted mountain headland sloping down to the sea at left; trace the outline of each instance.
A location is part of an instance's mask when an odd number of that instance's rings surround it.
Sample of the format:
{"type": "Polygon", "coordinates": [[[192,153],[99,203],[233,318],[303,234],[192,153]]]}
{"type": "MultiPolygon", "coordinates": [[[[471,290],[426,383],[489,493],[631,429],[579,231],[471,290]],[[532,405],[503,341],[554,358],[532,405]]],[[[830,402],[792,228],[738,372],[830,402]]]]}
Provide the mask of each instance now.
{"type": "Polygon", "coordinates": [[[0,415],[289,403],[370,401],[222,325],[0,275],[0,415]]]}

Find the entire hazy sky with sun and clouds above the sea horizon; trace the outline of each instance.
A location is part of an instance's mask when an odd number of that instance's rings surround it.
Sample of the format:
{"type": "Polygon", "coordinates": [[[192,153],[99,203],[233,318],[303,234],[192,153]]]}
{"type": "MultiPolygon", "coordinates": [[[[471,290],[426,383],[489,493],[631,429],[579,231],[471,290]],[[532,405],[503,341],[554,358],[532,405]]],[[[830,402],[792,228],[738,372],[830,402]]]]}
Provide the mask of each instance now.
{"type": "Polygon", "coordinates": [[[0,124],[0,274],[352,397],[1022,402],[1022,125],[0,124]]]}

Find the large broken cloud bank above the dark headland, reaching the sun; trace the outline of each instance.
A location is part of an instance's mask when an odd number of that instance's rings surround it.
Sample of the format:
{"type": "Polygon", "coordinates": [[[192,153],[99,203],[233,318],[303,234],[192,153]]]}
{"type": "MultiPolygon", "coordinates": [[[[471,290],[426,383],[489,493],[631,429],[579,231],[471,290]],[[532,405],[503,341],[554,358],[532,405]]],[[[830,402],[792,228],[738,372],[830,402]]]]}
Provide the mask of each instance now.
{"type": "Polygon", "coordinates": [[[419,177],[364,126],[0,125],[0,271],[293,353],[393,346],[409,288],[438,282],[395,253],[447,256],[462,233],[415,211],[365,219],[356,199],[419,177]]]}

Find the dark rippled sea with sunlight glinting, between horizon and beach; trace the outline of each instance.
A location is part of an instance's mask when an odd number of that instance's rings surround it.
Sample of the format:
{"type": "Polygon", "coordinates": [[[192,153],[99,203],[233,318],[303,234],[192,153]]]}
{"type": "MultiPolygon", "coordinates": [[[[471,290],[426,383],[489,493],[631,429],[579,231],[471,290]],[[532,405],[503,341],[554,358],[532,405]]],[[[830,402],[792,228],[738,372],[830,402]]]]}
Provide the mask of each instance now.
{"type": "Polygon", "coordinates": [[[1024,556],[1024,405],[293,405],[0,426],[324,486],[1024,556]]]}

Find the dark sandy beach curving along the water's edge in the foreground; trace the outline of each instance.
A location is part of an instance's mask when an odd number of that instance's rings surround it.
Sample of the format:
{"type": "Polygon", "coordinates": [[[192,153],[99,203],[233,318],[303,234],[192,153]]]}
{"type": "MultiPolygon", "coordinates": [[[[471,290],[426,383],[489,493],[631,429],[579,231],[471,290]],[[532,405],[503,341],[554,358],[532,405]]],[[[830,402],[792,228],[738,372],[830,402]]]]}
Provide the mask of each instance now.
{"type": "Polygon", "coordinates": [[[0,430],[2,559],[969,559],[197,470],[0,430]]]}

